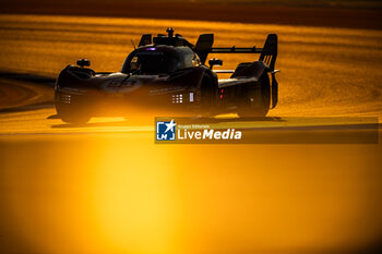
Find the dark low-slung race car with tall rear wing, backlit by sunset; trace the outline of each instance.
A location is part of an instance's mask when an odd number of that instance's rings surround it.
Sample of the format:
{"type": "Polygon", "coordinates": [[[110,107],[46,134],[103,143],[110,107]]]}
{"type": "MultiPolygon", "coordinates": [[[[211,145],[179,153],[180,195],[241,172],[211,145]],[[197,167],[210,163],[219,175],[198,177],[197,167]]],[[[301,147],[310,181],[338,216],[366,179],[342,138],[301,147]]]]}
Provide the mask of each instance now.
{"type": "Polygon", "coordinates": [[[86,123],[111,107],[122,109],[118,114],[126,117],[140,109],[166,110],[168,117],[228,112],[265,117],[277,105],[276,34],[267,36],[263,48],[216,48],[214,34],[202,34],[192,45],[172,28],[166,32],[155,37],[144,34],[120,72],[95,72],[87,59],[64,68],[55,86],[58,117],[86,123]],[[207,66],[210,53],[259,53],[260,58],[241,62],[236,70],[213,70],[223,61],[211,59],[207,66]],[[219,80],[219,73],[231,75],[219,80]]]}

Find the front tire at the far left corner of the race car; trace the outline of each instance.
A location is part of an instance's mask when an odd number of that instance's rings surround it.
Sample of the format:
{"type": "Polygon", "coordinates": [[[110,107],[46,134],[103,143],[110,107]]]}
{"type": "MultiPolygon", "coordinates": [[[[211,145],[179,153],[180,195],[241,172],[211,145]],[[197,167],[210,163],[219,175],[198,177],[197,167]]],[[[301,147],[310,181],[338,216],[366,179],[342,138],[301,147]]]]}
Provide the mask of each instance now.
{"type": "Polygon", "coordinates": [[[72,97],[71,104],[62,102],[62,93],[56,92],[55,105],[59,118],[67,123],[85,124],[91,120],[91,113],[84,109],[84,105],[76,101],[75,96],[72,97]]]}

